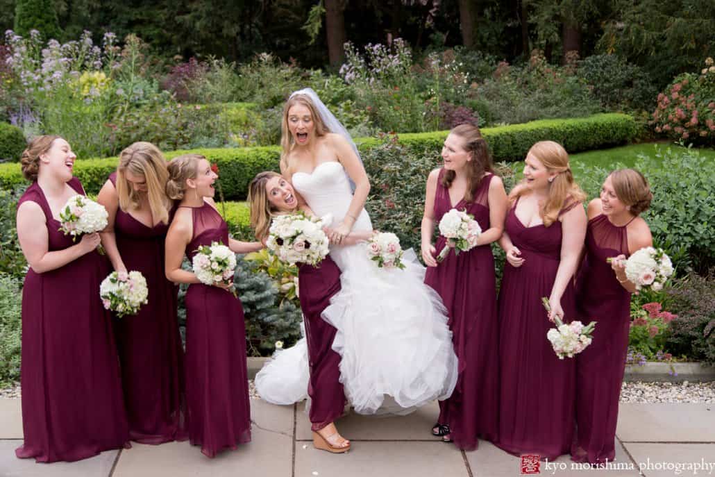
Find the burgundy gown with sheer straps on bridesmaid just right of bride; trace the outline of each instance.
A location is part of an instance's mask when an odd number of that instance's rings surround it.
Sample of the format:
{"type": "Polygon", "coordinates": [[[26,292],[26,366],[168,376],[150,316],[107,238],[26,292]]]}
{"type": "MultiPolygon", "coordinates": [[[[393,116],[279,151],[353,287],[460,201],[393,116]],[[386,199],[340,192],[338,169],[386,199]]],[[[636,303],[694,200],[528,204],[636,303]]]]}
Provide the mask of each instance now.
{"type": "MultiPolygon", "coordinates": [[[[474,216],[482,230],[490,228],[488,192],[494,174],[488,174],[474,191],[473,202],[460,200],[452,207],[449,191],[441,184],[435,192],[434,214],[439,222],[455,208],[474,216]]],[[[435,248],[445,247],[439,237],[435,248]]],[[[437,267],[428,267],[425,283],[442,297],[449,312],[449,327],[459,375],[454,393],[440,401],[440,424],[450,426],[458,448],[473,451],[477,438],[495,440],[498,433],[498,321],[494,256],[490,245],[455,255],[453,251],[437,267]]]]}

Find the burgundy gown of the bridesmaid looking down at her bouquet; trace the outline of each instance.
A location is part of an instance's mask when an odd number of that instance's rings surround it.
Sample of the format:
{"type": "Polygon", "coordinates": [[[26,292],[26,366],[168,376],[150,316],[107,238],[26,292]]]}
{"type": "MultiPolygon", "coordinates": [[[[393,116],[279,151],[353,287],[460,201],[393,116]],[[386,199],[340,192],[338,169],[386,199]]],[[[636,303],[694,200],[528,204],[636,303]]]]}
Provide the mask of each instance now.
{"type": "MultiPolygon", "coordinates": [[[[116,186],[117,173],[109,180],[116,186]]],[[[114,233],[127,271],[142,272],[149,297],[137,315],[114,321],[122,364],[129,437],[159,444],[186,438],[184,350],[177,318],[178,287],[164,274],[164,239],[169,225],[144,225],[117,208],[114,233]]]]}

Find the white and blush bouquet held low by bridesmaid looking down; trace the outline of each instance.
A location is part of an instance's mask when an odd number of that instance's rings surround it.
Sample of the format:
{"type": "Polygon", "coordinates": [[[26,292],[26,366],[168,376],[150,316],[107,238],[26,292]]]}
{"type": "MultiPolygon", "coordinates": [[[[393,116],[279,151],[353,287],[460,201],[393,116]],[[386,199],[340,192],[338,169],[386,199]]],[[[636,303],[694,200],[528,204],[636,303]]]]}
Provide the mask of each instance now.
{"type": "Polygon", "coordinates": [[[99,285],[104,308],[116,312],[120,318],[136,315],[147,303],[148,295],[147,280],[142,272],[112,272],[99,285]]]}

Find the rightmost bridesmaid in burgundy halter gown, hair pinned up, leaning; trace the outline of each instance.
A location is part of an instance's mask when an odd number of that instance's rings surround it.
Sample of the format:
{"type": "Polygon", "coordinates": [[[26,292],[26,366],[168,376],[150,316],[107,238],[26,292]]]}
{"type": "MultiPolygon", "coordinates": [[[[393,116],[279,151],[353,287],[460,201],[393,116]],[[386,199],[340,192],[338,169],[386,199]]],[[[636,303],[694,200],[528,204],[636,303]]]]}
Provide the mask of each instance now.
{"type": "Polygon", "coordinates": [[[604,463],[616,456],[616,421],[626,367],[631,293],[626,257],[653,243],[638,215],[651,204],[648,181],[635,169],[606,177],[601,198],[588,204],[586,258],[576,280],[578,318],[596,320],[593,343],[576,356],[576,437],[571,459],[604,463]],[[608,257],[617,260],[611,264],[608,257]]]}

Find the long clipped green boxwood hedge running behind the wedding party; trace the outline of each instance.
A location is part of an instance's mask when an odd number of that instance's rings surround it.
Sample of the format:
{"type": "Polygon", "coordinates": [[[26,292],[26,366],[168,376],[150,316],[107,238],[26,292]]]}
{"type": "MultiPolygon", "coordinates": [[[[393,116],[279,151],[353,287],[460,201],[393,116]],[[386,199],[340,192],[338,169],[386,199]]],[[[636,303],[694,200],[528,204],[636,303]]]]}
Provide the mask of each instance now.
{"type": "MultiPolygon", "coordinates": [[[[495,160],[518,160],[535,142],[551,139],[560,142],[568,152],[615,146],[628,142],[636,134],[636,122],[626,114],[596,114],[579,119],[546,119],[525,124],[482,129],[495,160]]],[[[435,149],[442,147],[448,131],[400,134],[406,147],[435,149]]],[[[357,139],[365,150],[380,144],[380,139],[357,139]]],[[[258,172],[277,170],[279,146],[242,147],[236,149],[192,149],[167,152],[167,159],[179,154],[203,154],[215,162],[220,170],[221,185],[227,199],[244,199],[250,180],[258,172]]],[[[117,159],[82,159],[75,163],[75,175],[87,192],[97,193],[107,176],[114,170],[117,159]]],[[[0,187],[9,188],[23,183],[19,164],[0,164],[0,187]]]]}

